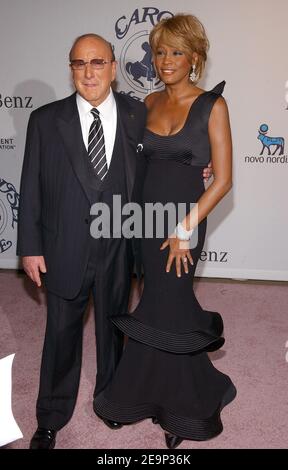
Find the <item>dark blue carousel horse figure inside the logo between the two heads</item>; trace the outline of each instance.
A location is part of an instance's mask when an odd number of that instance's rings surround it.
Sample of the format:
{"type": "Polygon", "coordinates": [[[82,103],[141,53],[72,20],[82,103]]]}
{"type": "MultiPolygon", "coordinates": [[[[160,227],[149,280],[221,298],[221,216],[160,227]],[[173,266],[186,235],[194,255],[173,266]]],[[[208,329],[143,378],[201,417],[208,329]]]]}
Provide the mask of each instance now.
{"type": "MultiPolygon", "coordinates": [[[[132,76],[135,82],[144,88],[145,84],[140,80],[140,78],[144,78],[148,82],[152,82],[153,79],[156,78],[156,72],[152,64],[152,51],[150,45],[145,41],[141,47],[144,50],[143,59],[141,61],[128,62],[126,64],[126,72],[132,76]]],[[[155,86],[159,83],[160,80],[155,83],[155,86]]]]}

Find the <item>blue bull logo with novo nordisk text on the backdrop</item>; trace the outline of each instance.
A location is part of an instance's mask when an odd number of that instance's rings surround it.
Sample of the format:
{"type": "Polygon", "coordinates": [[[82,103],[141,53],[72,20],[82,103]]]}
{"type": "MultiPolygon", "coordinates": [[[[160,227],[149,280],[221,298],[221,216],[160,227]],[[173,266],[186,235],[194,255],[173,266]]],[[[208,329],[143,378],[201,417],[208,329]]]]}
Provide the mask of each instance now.
{"type": "Polygon", "coordinates": [[[261,124],[257,139],[262,144],[258,156],[246,156],[246,163],[288,163],[287,155],[284,155],[284,137],[274,137],[269,132],[267,124],[261,124]]]}

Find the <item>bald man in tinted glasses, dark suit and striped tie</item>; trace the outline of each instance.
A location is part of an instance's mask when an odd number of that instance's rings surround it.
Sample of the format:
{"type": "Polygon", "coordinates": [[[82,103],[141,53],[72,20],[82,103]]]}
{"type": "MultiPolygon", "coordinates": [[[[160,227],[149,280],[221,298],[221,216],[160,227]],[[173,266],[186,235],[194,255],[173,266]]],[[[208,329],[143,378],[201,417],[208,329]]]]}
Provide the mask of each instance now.
{"type": "Polygon", "coordinates": [[[142,142],[145,106],[112,92],[116,62],[110,43],[102,37],[77,38],[70,66],[76,93],[31,114],[21,178],[17,254],[38,286],[42,273],[47,289],[33,449],[52,449],[57,431],[72,416],[81,370],[83,316],[91,291],[97,343],[94,396],[111,379],[123,341],[109,318],[127,312],[133,254],[138,259],[123,236],[90,235],[90,208],[104,202],[112,210],[113,196],[120,195],[122,204],[136,197],[135,181],[140,188],[145,169],[136,152],[142,142]],[[97,155],[91,135],[99,145],[97,155]]]}

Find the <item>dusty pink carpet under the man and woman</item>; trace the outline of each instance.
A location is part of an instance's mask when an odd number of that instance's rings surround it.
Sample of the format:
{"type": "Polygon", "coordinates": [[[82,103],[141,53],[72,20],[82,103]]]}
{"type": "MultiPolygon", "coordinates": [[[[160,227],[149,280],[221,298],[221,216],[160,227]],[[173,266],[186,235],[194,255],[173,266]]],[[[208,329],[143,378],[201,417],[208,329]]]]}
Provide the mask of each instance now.
{"type": "MultiPolygon", "coordinates": [[[[222,434],[205,442],[184,441],[179,450],[286,448],[287,283],[202,279],[196,283],[196,293],[204,308],[219,311],[223,317],[226,343],[210,357],[218,369],[230,375],[238,395],[222,412],[222,434]]],[[[132,308],[137,299],[134,290],[132,308]]],[[[37,426],[35,402],[45,327],[45,295],[15,271],[0,273],[0,325],[0,358],[16,353],[12,407],[24,435],[7,447],[23,449],[29,446],[37,426]]],[[[71,421],[58,433],[57,448],[166,448],[163,431],[151,420],[117,431],[107,428],[92,410],[94,378],[94,323],[89,309],[78,401],[71,421]]]]}

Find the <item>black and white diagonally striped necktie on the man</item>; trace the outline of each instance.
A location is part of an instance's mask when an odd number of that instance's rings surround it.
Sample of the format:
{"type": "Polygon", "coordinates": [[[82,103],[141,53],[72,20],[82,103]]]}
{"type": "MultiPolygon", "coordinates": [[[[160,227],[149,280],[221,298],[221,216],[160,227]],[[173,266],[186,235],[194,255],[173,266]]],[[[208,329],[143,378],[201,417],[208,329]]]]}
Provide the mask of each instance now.
{"type": "Polygon", "coordinates": [[[88,155],[95,173],[103,180],[108,172],[104,132],[98,109],[92,108],[91,113],[93,114],[94,121],[89,129],[88,155]]]}

